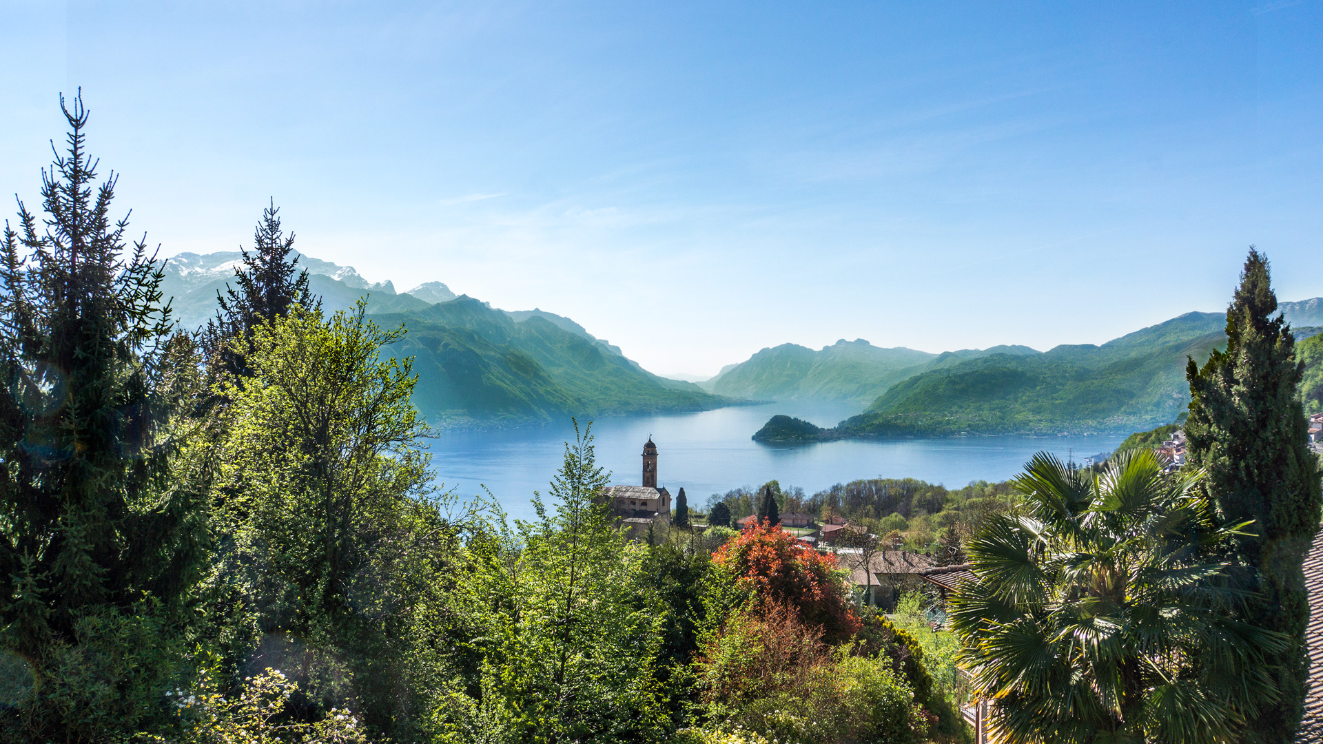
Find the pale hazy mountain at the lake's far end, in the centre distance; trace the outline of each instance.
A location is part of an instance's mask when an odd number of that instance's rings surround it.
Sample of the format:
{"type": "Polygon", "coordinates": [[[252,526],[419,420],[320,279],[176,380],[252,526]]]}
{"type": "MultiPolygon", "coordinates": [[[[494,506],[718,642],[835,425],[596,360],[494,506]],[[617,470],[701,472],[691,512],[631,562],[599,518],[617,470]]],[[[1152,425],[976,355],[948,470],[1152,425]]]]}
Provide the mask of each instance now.
{"type": "Polygon", "coordinates": [[[704,387],[749,400],[853,400],[867,402],[923,369],[935,357],[910,348],[878,348],[844,339],[814,351],[798,344],[765,348],[704,387]]]}

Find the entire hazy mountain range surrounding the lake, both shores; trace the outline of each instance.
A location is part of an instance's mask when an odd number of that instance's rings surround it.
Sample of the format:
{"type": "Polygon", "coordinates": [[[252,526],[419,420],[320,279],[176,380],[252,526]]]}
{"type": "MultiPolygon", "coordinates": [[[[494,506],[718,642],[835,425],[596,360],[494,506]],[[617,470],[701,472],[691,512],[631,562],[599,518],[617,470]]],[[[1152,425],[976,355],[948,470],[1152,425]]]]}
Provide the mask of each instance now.
{"type": "MultiPolygon", "coordinates": [[[[241,256],[171,258],[164,290],[176,319],[198,327],[241,256]]],[[[860,414],[833,429],[777,417],[763,440],[1134,432],[1170,422],[1188,402],[1184,367],[1225,336],[1221,312],[1188,312],[1102,346],[1024,346],[931,353],[844,339],[822,349],[765,348],[699,384],[652,375],[574,320],[538,308],[505,311],[456,297],[441,282],[397,293],[351,266],[307,256],[327,311],[366,297],[378,323],[409,334],[388,349],[411,356],[414,402],[434,424],[544,422],[569,416],[704,410],[738,401],[832,400],[860,414]]],[[[1323,326],[1323,298],[1283,302],[1301,338],[1323,326]]]]}

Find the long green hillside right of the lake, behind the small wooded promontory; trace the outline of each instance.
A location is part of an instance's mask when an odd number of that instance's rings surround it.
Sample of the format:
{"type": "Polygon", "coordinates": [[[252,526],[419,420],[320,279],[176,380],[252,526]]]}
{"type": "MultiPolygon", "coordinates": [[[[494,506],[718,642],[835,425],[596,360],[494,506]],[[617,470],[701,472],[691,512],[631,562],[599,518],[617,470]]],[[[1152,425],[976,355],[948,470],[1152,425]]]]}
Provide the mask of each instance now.
{"type": "Polygon", "coordinates": [[[893,385],[832,434],[1134,432],[1166,424],[1188,402],[1185,357],[1225,340],[1224,316],[1189,312],[1101,347],[992,353],[893,385]]]}

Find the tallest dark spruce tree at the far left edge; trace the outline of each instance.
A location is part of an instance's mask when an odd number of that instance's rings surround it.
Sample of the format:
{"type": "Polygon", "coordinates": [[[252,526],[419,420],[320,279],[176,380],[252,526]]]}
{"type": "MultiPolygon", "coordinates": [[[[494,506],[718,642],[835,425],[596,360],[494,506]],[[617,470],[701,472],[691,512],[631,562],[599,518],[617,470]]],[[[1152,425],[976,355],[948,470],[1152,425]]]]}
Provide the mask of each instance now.
{"type": "Polygon", "coordinates": [[[161,267],[114,221],[87,111],[19,204],[0,290],[0,736],[102,741],[160,728],[205,552],[206,473],[187,467],[198,391],[161,267]],[[24,253],[26,261],[24,263],[24,253]]]}

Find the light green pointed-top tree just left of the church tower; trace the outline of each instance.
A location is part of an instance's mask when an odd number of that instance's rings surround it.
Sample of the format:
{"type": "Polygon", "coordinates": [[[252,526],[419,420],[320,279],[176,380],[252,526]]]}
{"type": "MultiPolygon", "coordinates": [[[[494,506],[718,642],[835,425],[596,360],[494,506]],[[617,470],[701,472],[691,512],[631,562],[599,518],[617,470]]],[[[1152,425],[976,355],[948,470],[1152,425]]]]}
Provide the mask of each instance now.
{"type": "Polygon", "coordinates": [[[565,446],[549,507],[475,581],[487,608],[480,700],[467,727],[496,741],[638,741],[660,736],[660,618],[642,586],[648,548],[626,540],[601,498],[589,429],[565,446]],[[504,597],[495,609],[492,597],[504,597]]]}

